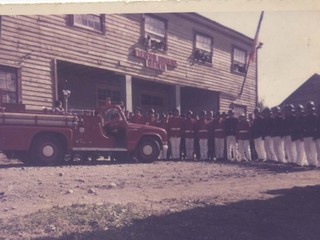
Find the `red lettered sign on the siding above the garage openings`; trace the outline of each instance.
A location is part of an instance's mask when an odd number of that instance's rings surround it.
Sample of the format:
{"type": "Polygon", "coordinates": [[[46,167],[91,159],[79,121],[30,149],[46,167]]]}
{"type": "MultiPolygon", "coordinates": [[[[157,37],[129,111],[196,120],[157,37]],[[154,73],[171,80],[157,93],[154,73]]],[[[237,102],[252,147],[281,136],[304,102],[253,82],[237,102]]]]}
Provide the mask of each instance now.
{"type": "Polygon", "coordinates": [[[147,51],[141,50],[136,48],[135,51],[135,56],[138,58],[142,58],[146,60],[146,67],[147,68],[152,68],[155,70],[160,70],[160,71],[166,71],[167,66],[170,66],[172,68],[175,68],[178,66],[178,63],[176,60],[163,57],[160,55],[156,55],[154,53],[149,53],[147,51]]]}

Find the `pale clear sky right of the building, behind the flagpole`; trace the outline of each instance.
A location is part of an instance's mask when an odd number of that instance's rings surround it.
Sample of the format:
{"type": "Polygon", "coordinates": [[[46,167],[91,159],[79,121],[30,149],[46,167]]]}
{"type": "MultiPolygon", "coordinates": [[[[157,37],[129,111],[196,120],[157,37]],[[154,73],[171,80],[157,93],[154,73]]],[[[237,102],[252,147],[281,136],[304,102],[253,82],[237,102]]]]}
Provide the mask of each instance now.
{"type": "MultiPolygon", "coordinates": [[[[260,11],[201,13],[254,38],[260,11]]],[[[265,11],[259,33],[258,95],[280,104],[314,73],[320,74],[320,11],[265,11]]]]}

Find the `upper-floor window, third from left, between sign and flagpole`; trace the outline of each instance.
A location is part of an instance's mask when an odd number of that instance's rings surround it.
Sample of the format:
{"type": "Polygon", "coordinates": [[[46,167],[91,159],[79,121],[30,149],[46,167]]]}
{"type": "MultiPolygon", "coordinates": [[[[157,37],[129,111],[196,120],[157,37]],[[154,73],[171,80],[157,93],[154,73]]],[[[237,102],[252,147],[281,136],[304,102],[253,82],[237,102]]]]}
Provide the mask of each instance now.
{"type": "Polygon", "coordinates": [[[212,63],[212,38],[196,34],[194,40],[193,59],[196,62],[212,63]]]}

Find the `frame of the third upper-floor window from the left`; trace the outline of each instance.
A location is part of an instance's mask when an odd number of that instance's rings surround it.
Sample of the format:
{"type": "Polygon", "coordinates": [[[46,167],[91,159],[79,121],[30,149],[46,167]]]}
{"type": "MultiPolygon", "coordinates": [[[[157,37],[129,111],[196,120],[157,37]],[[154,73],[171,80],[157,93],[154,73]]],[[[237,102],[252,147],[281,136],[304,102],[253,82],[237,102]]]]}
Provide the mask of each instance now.
{"type": "Polygon", "coordinates": [[[202,33],[202,32],[194,31],[194,34],[193,34],[193,54],[192,54],[194,62],[212,66],[212,64],[213,64],[213,41],[214,41],[214,39],[212,36],[205,34],[205,33],[202,33]],[[211,42],[210,43],[210,52],[208,52],[207,50],[201,49],[201,48],[197,48],[197,35],[210,39],[210,42],[211,42]],[[200,51],[200,53],[199,53],[199,51],[200,51]],[[209,59],[210,59],[209,61],[199,59],[199,58],[201,58],[201,55],[198,55],[198,54],[202,54],[203,52],[209,56],[209,59]]]}

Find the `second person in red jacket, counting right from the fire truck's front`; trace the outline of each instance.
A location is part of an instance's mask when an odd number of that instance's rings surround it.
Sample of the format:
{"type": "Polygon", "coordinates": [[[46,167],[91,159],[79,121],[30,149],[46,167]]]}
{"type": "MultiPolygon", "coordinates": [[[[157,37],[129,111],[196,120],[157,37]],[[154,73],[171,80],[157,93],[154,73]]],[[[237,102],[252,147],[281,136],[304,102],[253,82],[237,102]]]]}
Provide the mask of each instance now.
{"type": "Polygon", "coordinates": [[[187,112],[186,119],[183,122],[183,131],[186,145],[186,159],[192,160],[194,153],[195,120],[193,112],[187,112]]]}

